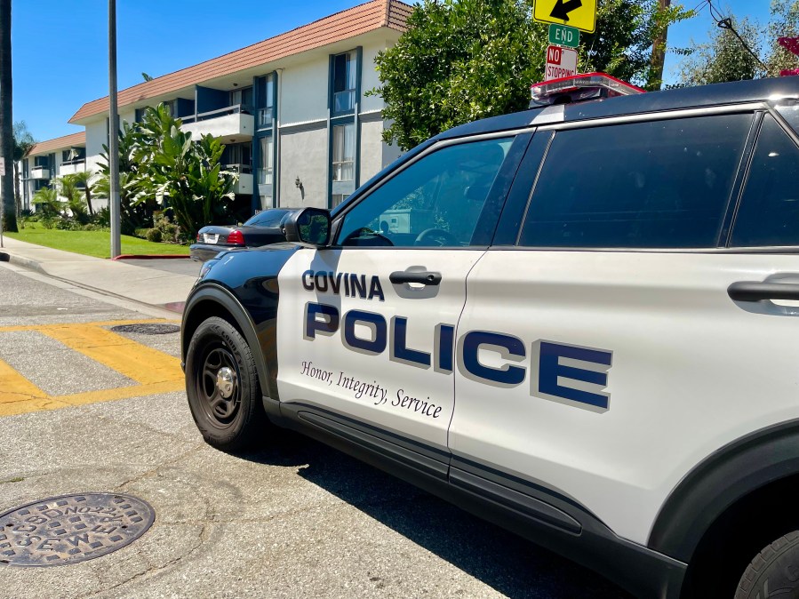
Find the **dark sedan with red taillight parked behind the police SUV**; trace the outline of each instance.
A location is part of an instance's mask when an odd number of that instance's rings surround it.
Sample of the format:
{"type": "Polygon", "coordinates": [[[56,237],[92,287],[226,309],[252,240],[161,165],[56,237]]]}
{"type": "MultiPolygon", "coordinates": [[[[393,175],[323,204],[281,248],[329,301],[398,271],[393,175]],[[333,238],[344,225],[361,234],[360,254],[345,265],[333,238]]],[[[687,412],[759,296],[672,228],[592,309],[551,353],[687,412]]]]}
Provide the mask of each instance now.
{"type": "Polygon", "coordinates": [[[294,209],[270,208],[259,212],[244,225],[208,225],[197,232],[197,243],[190,248],[192,260],[204,262],[211,260],[219,252],[236,248],[259,247],[285,241],[281,223],[294,209]]]}

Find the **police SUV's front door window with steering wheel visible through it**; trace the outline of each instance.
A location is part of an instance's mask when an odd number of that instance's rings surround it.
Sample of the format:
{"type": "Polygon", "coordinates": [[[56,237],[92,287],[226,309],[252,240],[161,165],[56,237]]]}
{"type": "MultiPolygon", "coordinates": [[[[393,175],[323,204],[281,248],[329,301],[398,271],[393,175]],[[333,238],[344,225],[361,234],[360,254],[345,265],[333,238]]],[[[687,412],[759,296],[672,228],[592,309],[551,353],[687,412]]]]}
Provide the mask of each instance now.
{"type": "Polygon", "coordinates": [[[344,217],[338,244],[461,247],[513,138],[448,146],[420,158],[344,217]]]}

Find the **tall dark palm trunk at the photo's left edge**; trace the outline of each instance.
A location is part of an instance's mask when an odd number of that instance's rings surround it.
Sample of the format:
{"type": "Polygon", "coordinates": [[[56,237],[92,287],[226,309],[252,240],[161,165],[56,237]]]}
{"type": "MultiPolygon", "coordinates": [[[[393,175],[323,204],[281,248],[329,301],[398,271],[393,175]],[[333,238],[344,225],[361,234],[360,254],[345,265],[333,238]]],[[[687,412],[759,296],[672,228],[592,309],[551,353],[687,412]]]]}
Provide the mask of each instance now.
{"type": "Polygon", "coordinates": [[[16,231],[13,179],[13,112],[11,60],[11,0],[0,0],[0,156],[5,158],[0,199],[4,207],[4,230],[16,231]]]}

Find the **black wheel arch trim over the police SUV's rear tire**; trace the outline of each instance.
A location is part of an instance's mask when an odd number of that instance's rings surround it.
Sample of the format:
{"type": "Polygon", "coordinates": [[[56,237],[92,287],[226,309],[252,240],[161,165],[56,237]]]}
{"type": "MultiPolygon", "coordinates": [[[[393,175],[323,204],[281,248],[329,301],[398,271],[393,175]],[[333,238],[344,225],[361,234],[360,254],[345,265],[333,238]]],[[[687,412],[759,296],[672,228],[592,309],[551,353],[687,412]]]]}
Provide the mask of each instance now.
{"type": "Polygon", "coordinates": [[[792,479],[799,481],[799,419],[741,437],[694,467],[660,508],[647,545],[691,563],[720,518],[792,479]]]}

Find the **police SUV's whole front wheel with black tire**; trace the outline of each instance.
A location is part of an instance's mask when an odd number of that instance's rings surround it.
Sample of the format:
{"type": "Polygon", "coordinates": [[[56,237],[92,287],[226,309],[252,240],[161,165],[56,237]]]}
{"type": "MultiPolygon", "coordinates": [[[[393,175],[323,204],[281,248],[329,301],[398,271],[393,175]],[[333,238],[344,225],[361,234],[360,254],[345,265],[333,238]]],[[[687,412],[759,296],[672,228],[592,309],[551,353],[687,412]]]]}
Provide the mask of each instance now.
{"type": "Polygon", "coordinates": [[[244,449],[268,426],[250,346],[221,318],[208,318],[192,335],[186,392],[197,428],[217,449],[244,449]]]}

